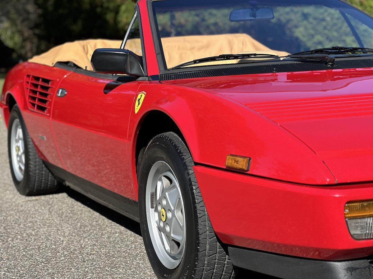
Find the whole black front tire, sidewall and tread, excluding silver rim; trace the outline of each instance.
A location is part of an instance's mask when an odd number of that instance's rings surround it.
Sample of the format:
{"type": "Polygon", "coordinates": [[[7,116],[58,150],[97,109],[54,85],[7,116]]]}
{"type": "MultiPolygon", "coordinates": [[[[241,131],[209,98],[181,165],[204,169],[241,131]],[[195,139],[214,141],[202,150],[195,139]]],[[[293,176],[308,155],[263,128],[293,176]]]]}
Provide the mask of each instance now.
{"type": "Polygon", "coordinates": [[[158,278],[235,278],[231,260],[212,228],[193,166],[194,162],[184,142],[173,132],[157,135],[146,148],[138,171],[138,182],[140,225],[148,258],[158,278]],[[169,164],[184,192],[186,245],[184,256],[175,269],[167,269],[160,262],[153,248],[147,222],[145,187],[151,167],[160,160],[169,164]]]}

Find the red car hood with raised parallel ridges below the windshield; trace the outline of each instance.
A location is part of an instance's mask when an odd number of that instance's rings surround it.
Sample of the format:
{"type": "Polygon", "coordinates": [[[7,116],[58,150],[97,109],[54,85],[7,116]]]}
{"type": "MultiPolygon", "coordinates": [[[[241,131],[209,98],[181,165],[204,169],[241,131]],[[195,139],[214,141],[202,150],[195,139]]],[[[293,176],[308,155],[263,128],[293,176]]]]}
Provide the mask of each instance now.
{"type": "Polygon", "coordinates": [[[372,68],[167,83],[222,95],[276,122],[319,156],[336,183],[373,180],[372,68]]]}

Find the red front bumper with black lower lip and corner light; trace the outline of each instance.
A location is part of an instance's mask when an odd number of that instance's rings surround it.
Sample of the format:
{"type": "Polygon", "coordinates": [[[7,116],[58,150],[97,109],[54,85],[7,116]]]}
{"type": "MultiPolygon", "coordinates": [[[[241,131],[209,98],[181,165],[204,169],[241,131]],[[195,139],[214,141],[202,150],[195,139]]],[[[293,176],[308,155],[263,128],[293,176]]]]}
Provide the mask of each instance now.
{"type": "Polygon", "coordinates": [[[281,278],[370,278],[372,183],[297,185],[208,167],[195,173],[236,266],[281,278]],[[360,217],[349,217],[351,207],[360,217]]]}

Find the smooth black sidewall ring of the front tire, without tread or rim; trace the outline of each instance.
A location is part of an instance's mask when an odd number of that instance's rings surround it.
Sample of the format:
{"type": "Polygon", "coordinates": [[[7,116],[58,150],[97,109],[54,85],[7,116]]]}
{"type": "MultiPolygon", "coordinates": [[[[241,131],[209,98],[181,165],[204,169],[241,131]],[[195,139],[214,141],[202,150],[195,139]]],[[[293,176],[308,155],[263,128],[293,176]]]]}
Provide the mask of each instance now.
{"type": "MultiPolygon", "coordinates": [[[[180,140],[181,141],[181,140],[180,140]]],[[[175,145],[166,140],[166,137],[156,137],[148,145],[144,158],[141,163],[138,182],[139,182],[139,215],[142,238],[150,264],[158,278],[191,278],[194,269],[194,259],[197,250],[197,219],[195,218],[195,206],[192,201],[188,173],[185,170],[181,155],[175,150],[175,145]],[[167,269],[159,260],[156,251],[154,250],[153,243],[150,238],[145,195],[148,174],[151,167],[157,161],[165,161],[178,180],[179,187],[182,192],[184,201],[184,215],[185,215],[185,252],[183,259],[178,267],[175,269],[167,269]]]]}

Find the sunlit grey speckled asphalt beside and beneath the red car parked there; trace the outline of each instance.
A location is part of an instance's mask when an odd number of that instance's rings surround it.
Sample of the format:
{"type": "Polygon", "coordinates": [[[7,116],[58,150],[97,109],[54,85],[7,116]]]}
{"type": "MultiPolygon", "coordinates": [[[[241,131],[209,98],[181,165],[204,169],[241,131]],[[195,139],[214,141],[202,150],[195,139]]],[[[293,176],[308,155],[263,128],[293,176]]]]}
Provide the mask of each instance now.
{"type": "MultiPolygon", "coordinates": [[[[239,278],[249,273],[242,270],[239,278]]],[[[18,194],[2,119],[0,278],[155,278],[137,222],[70,189],[38,197],[18,194]]]]}

